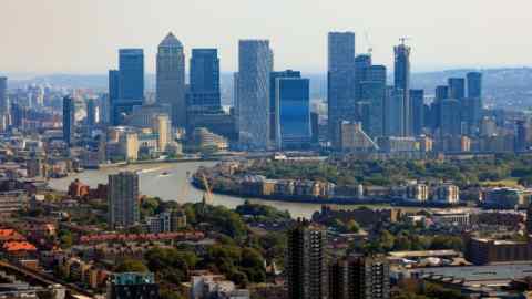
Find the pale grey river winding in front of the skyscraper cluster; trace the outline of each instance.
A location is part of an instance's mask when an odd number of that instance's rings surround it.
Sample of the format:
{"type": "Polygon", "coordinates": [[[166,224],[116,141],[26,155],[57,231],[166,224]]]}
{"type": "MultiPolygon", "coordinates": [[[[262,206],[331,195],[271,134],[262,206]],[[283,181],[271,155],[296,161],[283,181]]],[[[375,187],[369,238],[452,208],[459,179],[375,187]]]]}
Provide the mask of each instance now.
{"type": "MultiPolygon", "coordinates": [[[[157,196],[163,200],[175,200],[183,203],[197,203],[202,200],[203,190],[194,188],[187,179],[187,173],[193,174],[200,166],[213,166],[215,162],[186,162],[186,163],[162,163],[129,165],[122,167],[109,167],[98,171],[84,171],[64,178],[50,179],[49,184],[57,190],[68,190],[69,185],[75,178],[83,184],[95,187],[98,184],[106,184],[108,175],[120,171],[140,171],[140,190],[147,196],[157,196]],[[167,174],[163,174],[167,173],[167,174]]],[[[244,198],[215,194],[214,204],[234,208],[242,203],[244,198]]],[[[291,217],[310,218],[313,213],[320,209],[319,204],[287,203],[280,200],[265,200],[258,198],[248,198],[252,203],[260,203],[276,207],[280,210],[288,210],[291,217]]]]}

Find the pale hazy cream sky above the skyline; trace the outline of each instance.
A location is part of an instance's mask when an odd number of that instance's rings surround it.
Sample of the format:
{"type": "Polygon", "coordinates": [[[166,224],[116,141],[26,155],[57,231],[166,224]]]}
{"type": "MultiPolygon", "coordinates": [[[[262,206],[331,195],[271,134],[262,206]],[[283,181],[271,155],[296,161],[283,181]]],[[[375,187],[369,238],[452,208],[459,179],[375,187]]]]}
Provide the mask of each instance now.
{"type": "Polygon", "coordinates": [[[275,69],[323,72],[327,32],[354,31],[357,53],[392,66],[408,37],[413,71],[532,65],[530,0],[1,0],[0,72],[105,73],[117,49],[143,48],[155,70],[172,31],[192,48],[218,48],[237,70],[238,39],[269,39],[275,69]]]}

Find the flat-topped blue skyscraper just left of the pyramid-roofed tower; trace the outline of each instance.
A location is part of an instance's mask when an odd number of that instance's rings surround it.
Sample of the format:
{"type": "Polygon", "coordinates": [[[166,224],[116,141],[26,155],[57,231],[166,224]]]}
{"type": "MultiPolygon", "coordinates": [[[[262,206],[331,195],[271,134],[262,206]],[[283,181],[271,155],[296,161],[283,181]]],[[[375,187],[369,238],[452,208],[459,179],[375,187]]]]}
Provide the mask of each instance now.
{"type": "Polygon", "coordinates": [[[142,49],[119,50],[121,101],[141,101],[144,99],[144,51],[142,49]]]}

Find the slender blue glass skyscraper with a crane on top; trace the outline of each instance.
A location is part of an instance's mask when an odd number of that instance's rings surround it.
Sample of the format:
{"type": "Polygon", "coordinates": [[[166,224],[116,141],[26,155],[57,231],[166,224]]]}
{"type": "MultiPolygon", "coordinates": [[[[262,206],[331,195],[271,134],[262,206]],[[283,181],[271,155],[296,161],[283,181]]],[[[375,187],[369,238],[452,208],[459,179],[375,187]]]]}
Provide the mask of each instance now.
{"type": "Polygon", "coordinates": [[[401,43],[393,48],[393,81],[397,90],[402,91],[401,136],[412,134],[410,109],[410,47],[401,43]]]}

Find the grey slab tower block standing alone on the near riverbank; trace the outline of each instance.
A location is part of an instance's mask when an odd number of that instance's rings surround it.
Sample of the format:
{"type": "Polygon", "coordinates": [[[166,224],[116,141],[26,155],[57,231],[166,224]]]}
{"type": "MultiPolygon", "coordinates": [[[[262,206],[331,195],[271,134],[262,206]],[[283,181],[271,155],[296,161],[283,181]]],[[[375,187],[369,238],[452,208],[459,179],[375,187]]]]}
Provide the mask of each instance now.
{"type": "Polygon", "coordinates": [[[127,228],[139,223],[139,175],[136,173],[121,172],[109,175],[108,206],[111,228],[127,228]]]}

